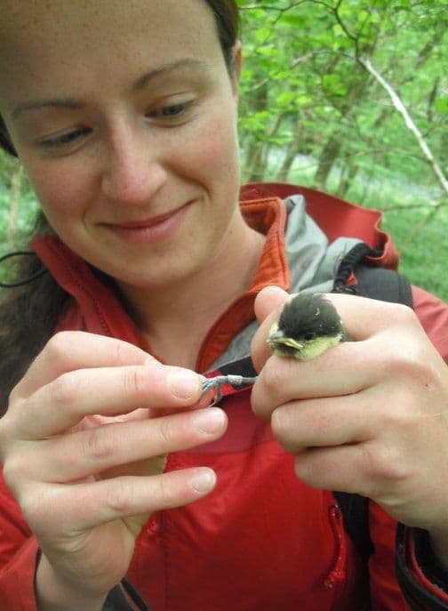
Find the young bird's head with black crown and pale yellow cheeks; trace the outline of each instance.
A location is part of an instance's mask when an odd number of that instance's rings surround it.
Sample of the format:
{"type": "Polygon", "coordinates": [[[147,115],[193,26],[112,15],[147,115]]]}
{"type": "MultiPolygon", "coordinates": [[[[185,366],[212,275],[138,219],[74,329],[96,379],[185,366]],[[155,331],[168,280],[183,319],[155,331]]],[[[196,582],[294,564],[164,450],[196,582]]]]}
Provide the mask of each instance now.
{"type": "Polygon", "coordinates": [[[321,293],[299,293],[284,304],[267,342],[276,356],[310,360],[348,340],[332,301],[321,293]]]}

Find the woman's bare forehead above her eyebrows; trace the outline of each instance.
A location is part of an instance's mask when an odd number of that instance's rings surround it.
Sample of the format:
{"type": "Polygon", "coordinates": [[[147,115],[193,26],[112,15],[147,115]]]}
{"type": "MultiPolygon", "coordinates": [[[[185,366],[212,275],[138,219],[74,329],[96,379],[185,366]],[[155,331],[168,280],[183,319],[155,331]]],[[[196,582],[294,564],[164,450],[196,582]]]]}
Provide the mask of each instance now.
{"type": "MultiPolygon", "coordinates": [[[[71,76],[140,70],[182,58],[213,61],[220,43],[203,0],[6,0],[0,25],[0,95],[30,82],[65,87],[71,76]]],[[[16,90],[14,92],[14,89],[16,90]]],[[[21,90],[21,91],[20,91],[21,90]]]]}

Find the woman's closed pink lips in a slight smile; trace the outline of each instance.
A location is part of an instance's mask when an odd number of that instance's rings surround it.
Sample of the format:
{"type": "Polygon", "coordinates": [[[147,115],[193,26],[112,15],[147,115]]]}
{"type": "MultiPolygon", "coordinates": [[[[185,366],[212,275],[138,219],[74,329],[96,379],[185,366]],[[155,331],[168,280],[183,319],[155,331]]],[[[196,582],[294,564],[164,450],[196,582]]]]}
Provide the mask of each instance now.
{"type": "Polygon", "coordinates": [[[117,236],[132,244],[150,244],[171,237],[179,228],[192,202],[176,210],[159,214],[142,221],[105,223],[103,227],[112,230],[117,236]]]}

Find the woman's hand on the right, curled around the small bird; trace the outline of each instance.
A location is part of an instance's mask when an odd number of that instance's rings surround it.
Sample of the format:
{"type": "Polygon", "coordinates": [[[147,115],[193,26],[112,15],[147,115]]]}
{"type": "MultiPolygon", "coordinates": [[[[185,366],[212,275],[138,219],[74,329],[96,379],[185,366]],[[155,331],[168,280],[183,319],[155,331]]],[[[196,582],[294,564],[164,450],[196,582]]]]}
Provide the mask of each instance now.
{"type": "Polygon", "coordinates": [[[329,294],[353,342],[318,358],[271,356],[266,339],[290,296],[257,298],[255,414],[270,419],[309,486],[363,494],[427,529],[448,565],[448,366],[410,308],[329,294]]]}

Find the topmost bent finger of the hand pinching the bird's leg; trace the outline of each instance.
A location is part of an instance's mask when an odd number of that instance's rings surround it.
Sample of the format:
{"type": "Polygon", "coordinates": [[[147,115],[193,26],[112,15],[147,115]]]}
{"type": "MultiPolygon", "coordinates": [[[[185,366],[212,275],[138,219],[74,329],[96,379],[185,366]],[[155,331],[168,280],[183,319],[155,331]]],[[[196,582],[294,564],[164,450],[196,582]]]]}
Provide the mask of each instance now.
{"type": "MultiPolygon", "coordinates": [[[[144,365],[157,362],[129,342],[84,331],[64,331],[52,336],[23,380],[12,391],[13,398],[27,398],[41,386],[68,371],[89,367],[144,365]]],[[[160,365],[160,364],[159,364],[160,365]]],[[[161,365],[160,365],[161,366],[161,365]]]]}

